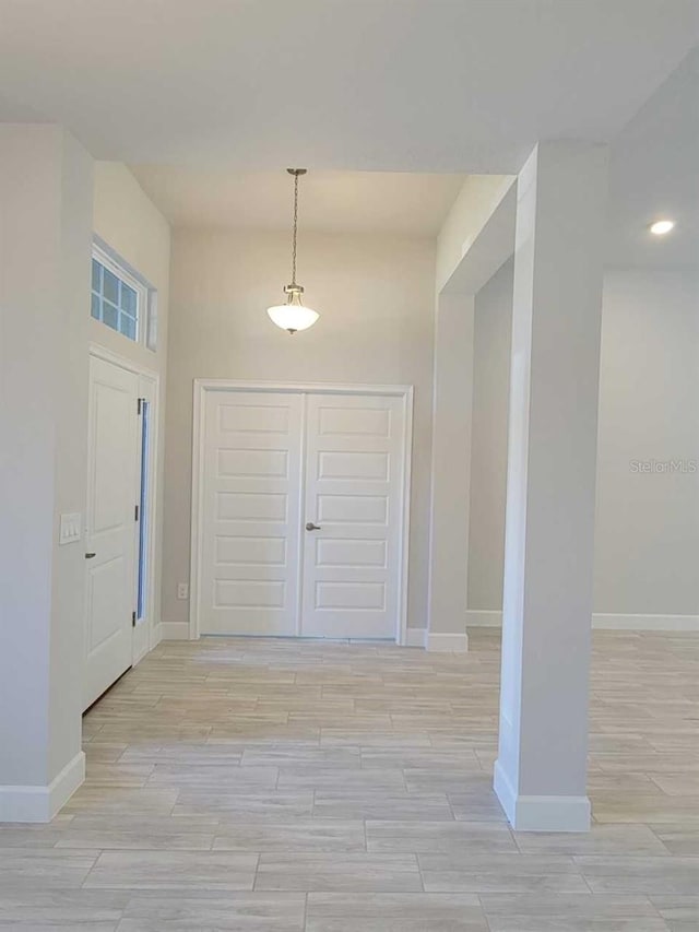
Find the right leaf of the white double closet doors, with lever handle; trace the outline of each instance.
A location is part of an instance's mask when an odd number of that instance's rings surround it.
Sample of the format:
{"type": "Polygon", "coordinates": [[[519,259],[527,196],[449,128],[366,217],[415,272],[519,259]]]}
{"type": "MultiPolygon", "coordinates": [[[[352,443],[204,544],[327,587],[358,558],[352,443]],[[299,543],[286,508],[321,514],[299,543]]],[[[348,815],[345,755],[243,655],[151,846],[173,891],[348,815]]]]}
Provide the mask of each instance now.
{"type": "Polygon", "coordinates": [[[395,638],[403,399],[309,394],[301,634],[395,638]]]}

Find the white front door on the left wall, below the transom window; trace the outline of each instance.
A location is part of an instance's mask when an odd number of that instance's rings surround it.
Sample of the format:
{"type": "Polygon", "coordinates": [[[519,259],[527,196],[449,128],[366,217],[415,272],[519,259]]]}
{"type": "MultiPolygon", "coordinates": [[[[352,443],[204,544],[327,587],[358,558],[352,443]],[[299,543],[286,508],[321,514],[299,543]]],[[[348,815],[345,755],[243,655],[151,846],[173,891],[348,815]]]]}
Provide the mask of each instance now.
{"type": "Polygon", "coordinates": [[[139,377],[91,356],[84,708],[131,666],[139,377]]]}

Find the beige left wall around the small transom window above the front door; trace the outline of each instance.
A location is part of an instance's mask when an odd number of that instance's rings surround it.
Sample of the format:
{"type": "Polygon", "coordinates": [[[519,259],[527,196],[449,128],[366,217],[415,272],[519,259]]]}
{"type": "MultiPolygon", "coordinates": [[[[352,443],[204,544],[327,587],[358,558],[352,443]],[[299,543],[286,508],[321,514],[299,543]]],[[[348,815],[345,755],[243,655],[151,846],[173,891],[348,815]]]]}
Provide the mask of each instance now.
{"type": "MultiPolygon", "coordinates": [[[[168,306],[170,275],[170,227],[163,214],[143,192],[126,165],[118,162],[95,163],[93,228],[95,234],[157,290],[157,343],[155,352],[90,318],[90,339],[112,353],[158,374],[159,412],[157,475],[155,503],[155,618],[161,621],[163,573],[163,502],[165,469],[165,401],[168,343],[168,306]]],[[[137,645],[137,653],[143,647],[137,645]]]]}

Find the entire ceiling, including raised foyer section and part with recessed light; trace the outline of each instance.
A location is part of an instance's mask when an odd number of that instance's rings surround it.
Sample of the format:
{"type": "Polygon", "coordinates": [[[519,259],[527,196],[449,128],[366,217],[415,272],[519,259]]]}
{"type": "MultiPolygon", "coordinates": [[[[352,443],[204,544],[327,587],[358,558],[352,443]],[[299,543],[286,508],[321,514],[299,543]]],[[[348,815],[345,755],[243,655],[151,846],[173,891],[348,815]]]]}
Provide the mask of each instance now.
{"type": "Polygon", "coordinates": [[[0,0],[0,120],[134,164],[177,224],[285,228],[296,164],[303,228],[418,235],[464,173],[608,140],[609,261],[696,267],[698,40],[698,0],[0,0]]]}

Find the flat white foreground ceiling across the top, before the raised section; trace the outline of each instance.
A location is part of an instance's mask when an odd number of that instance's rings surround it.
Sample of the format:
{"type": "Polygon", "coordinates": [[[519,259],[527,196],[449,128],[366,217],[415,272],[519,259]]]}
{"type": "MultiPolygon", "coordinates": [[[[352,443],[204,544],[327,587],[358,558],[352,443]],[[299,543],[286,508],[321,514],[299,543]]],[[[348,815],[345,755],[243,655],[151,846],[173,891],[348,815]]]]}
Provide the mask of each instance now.
{"type": "Polygon", "coordinates": [[[698,39],[696,0],[0,0],[0,119],[131,163],[509,174],[611,139],[698,39]]]}

